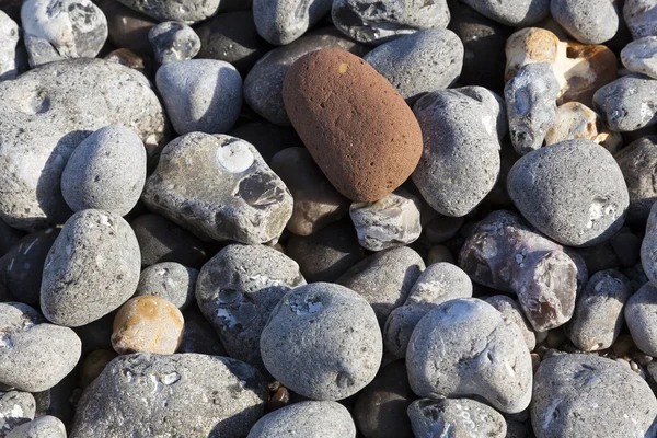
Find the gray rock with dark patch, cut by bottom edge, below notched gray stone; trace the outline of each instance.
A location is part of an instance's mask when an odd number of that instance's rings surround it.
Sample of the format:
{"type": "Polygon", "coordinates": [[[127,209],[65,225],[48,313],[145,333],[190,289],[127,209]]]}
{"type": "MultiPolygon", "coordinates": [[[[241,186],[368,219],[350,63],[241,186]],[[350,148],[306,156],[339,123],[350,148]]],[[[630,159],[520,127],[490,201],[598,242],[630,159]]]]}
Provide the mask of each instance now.
{"type": "Polygon", "coordinates": [[[417,438],[505,438],[506,420],[493,407],[470,399],[422,399],[408,406],[417,438]]]}

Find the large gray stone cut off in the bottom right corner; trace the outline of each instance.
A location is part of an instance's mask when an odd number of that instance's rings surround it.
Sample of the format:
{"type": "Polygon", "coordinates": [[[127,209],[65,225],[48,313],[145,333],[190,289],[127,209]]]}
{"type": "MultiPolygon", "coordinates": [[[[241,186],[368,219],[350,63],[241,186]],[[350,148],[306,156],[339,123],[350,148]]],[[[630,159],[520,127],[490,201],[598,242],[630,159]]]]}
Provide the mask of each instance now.
{"type": "Polygon", "coordinates": [[[596,355],[543,360],[534,378],[531,424],[537,438],[644,437],[657,400],[638,373],[596,355]]]}

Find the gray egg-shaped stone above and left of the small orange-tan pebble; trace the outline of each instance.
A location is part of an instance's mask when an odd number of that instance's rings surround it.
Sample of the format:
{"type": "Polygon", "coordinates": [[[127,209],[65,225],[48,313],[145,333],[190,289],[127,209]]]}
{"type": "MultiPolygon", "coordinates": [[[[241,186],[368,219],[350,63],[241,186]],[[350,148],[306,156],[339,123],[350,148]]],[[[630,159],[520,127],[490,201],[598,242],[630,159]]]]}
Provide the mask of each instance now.
{"type": "Polygon", "coordinates": [[[89,324],[127,301],[139,283],[141,257],[132,229],[103,210],[74,214],[48,252],[41,307],[51,322],[89,324]]]}

